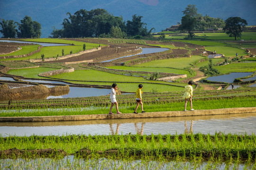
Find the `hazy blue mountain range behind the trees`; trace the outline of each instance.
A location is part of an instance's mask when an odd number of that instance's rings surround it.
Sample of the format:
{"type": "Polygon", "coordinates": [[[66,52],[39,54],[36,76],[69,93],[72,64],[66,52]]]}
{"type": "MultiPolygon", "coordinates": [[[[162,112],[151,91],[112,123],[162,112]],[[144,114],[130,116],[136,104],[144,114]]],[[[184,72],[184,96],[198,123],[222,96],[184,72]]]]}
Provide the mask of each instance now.
{"type": "MultiPolygon", "coordinates": [[[[241,17],[248,25],[256,25],[256,0],[0,0],[0,18],[20,23],[26,15],[41,24],[41,38],[48,37],[62,28],[67,12],[72,15],[80,9],[90,11],[104,8],[124,21],[133,15],[142,16],[142,22],[156,32],[181,22],[183,10],[189,4],[198,8],[198,13],[210,17],[241,17]]],[[[1,35],[0,35],[1,37],[1,35]]]]}

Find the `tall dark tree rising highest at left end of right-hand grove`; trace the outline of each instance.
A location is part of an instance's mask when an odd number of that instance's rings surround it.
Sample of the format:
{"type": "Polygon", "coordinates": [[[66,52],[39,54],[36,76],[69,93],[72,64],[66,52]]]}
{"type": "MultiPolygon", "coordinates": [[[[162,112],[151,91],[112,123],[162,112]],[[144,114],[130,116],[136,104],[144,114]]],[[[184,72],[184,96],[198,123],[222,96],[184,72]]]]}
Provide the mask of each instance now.
{"type": "Polygon", "coordinates": [[[191,17],[189,14],[186,14],[182,17],[182,24],[179,26],[179,30],[186,30],[188,31],[189,38],[193,38],[194,33],[192,32],[194,30],[194,27],[196,25],[196,18],[191,17]]]}

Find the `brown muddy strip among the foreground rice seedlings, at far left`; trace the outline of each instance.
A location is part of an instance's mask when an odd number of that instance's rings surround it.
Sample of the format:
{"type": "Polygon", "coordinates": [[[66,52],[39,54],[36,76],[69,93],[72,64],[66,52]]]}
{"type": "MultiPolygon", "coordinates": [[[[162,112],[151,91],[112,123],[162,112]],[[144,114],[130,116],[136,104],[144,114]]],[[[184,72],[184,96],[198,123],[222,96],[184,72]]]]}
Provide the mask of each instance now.
{"type": "Polygon", "coordinates": [[[0,158],[11,157],[11,156],[44,156],[52,157],[56,155],[66,156],[67,153],[61,149],[34,149],[34,150],[25,150],[25,149],[8,149],[0,151],[0,158]]]}

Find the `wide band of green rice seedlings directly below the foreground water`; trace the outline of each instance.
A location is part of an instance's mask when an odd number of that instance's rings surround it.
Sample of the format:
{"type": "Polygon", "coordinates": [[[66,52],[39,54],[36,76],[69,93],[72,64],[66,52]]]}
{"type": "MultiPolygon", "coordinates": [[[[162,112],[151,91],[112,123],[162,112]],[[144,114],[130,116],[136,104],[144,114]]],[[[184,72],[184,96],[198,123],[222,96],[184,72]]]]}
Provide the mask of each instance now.
{"type": "Polygon", "coordinates": [[[198,163],[206,160],[251,165],[256,159],[255,140],[255,134],[238,136],[224,133],[215,135],[167,134],[164,136],[161,134],[150,136],[139,134],[8,136],[0,137],[0,157],[1,160],[19,157],[23,159],[44,158],[46,156],[61,159],[65,155],[74,155],[78,159],[110,158],[123,161],[138,159],[160,162],[193,160],[198,163]],[[236,143],[234,143],[235,140],[236,143]]]}

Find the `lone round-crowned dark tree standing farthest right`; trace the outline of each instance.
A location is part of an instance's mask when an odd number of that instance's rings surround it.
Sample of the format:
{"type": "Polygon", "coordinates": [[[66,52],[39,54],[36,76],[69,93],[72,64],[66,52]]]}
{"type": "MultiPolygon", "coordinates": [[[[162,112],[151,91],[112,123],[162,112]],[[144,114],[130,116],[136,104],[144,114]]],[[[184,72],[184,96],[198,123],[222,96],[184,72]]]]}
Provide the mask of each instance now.
{"type": "Polygon", "coordinates": [[[224,32],[229,35],[229,37],[241,37],[242,28],[247,26],[247,21],[240,17],[229,17],[225,20],[225,26],[223,28],[224,32]]]}

